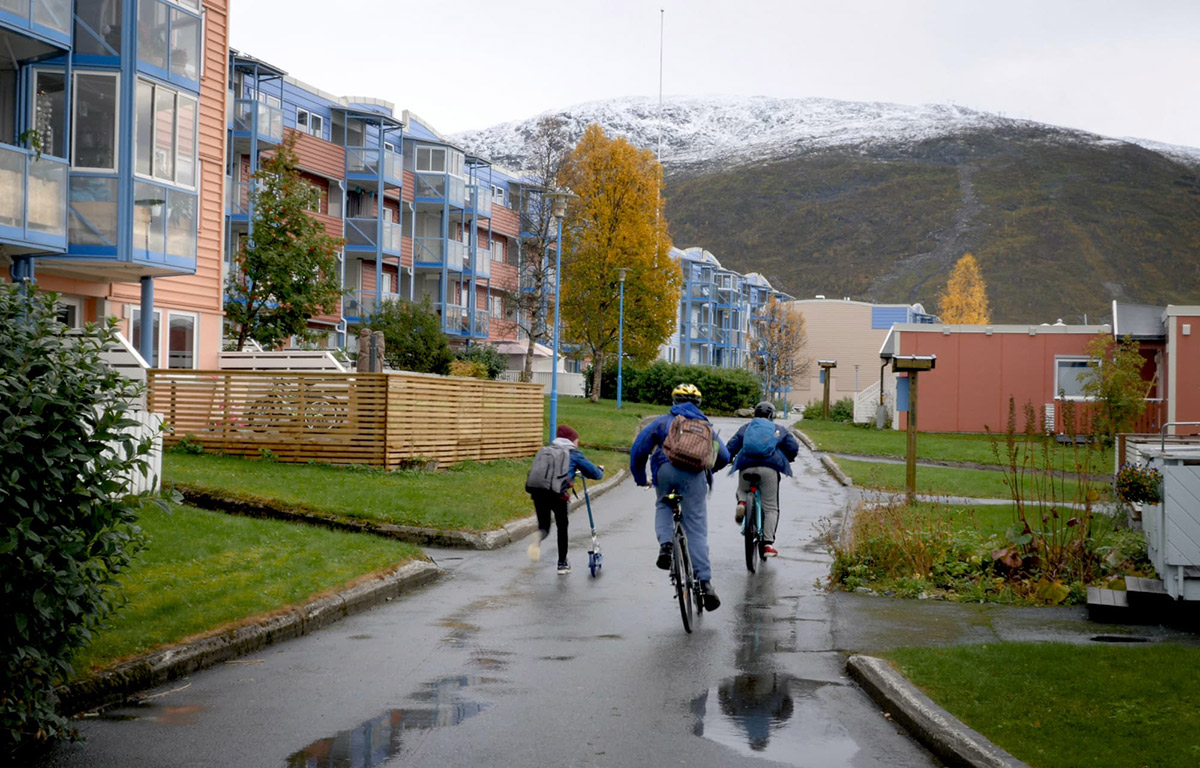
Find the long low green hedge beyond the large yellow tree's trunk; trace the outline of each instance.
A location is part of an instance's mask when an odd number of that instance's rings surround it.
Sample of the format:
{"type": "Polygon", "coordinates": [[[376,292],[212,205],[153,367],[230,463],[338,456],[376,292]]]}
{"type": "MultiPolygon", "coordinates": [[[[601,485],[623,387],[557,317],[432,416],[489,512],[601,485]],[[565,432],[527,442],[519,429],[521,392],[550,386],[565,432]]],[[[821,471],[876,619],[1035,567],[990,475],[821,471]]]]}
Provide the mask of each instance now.
{"type": "MultiPolygon", "coordinates": [[[[590,367],[584,382],[587,395],[590,396],[590,367]]],[[[749,371],[679,365],[662,360],[642,367],[625,365],[622,383],[622,400],[652,406],[670,406],[671,390],[678,384],[695,384],[703,396],[704,413],[733,413],[738,408],[751,408],[762,392],[758,378],[749,371]]],[[[600,374],[600,392],[606,398],[617,397],[617,364],[605,366],[600,374]]]]}

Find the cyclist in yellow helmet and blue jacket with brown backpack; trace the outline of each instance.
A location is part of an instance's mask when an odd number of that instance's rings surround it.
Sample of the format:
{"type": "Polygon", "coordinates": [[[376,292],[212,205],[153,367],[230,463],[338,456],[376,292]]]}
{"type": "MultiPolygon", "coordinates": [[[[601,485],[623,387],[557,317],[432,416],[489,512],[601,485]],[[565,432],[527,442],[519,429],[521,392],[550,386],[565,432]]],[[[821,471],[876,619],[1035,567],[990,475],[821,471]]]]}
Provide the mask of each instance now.
{"type": "Polygon", "coordinates": [[[630,450],[629,469],[634,481],[646,487],[653,482],[654,532],[659,541],[655,565],[671,569],[671,534],[674,527],[671,505],[665,497],[676,488],[680,494],[680,514],[691,550],[691,564],[704,592],[704,610],[715,611],[721,600],[713,588],[708,562],[708,491],[713,472],[730,462],[730,451],[700,410],[701,395],[695,384],[679,384],[671,392],[671,412],[652,421],[630,450]],[[703,456],[682,448],[694,442],[708,442],[703,456]],[[650,482],[646,480],[646,461],[650,461],[650,482]]]}

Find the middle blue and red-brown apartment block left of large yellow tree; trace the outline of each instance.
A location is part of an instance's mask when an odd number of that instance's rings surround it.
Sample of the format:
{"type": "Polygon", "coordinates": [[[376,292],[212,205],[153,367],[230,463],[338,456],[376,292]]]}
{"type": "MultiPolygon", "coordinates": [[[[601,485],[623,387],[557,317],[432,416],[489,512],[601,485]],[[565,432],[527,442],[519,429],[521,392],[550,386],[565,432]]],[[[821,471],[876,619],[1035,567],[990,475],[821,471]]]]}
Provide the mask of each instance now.
{"type": "Polygon", "coordinates": [[[330,347],[388,301],[428,301],[452,346],[516,338],[502,296],[516,288],[511,174],[468,155],[410,112],[336,96],[264,61],[229,55],[226,262],[253,236],[251,187],[264,152],[296,137],[311,214],[344,239],[346,298],[314,317],[330,347]]]}

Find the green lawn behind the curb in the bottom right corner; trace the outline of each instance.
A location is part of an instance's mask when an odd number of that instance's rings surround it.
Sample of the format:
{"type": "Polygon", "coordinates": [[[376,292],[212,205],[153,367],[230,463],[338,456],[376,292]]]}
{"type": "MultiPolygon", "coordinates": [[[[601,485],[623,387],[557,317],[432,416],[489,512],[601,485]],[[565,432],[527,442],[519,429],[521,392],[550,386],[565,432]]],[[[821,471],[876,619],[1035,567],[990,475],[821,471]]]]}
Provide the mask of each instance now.
{"type": "Polygon", "coordinates": [[[1000,643],[883,654],[1038,768],[1200,764],[1200,648],[1000,643]]]}

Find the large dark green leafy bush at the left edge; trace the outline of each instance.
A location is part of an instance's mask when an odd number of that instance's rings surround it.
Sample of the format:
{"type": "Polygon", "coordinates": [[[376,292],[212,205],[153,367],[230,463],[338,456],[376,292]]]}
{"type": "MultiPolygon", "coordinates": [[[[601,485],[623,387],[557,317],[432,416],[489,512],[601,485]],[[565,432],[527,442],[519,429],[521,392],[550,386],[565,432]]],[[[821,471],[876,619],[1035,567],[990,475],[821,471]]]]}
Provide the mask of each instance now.
{"type": "Polygon", "coordinates": [[[5,751],[71,733],[53,691],[118,606],[114,577],[143,546],[149,438],[126,427],[138,386],[101,360],[115,322],[68,335],[55,296],[0,287],[0,733],[5,751]]]}

